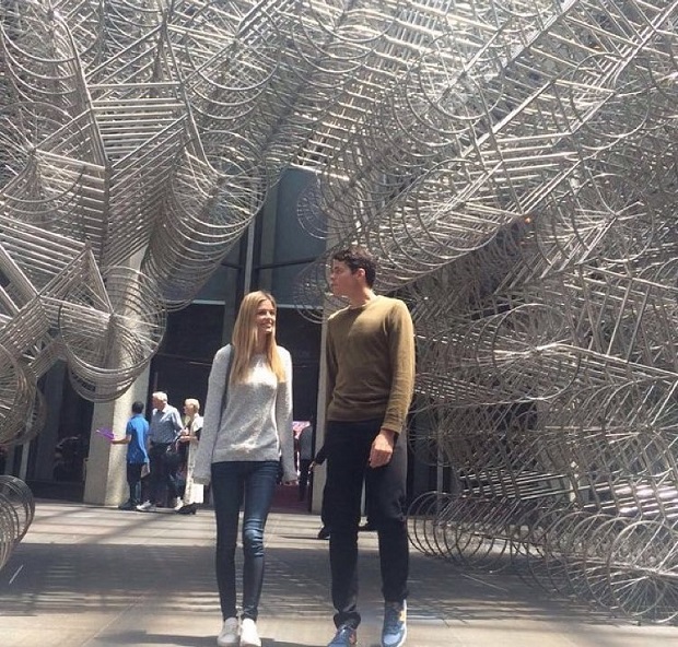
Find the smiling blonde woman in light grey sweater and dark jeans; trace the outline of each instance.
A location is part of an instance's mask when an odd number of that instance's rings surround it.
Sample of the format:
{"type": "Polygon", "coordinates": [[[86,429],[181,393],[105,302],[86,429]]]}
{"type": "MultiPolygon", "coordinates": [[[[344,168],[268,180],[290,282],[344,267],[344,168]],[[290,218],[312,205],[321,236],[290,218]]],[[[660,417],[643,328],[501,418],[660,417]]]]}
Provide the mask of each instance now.
{"type": "Polygon", "coordinates": [[[253,292],[241,304],[232,344],[217,352],[208,381],[194,480],[211,480],[217,517],[217,584],[223,627],[217,645],[259,647],[264,528],[282,459],[283,482],[296,484],[292,433],[292,360],[276,343],[276,302],[253,292]],[[243,513],[243,610],[235,602],[235,546],[243,513]],[[239,634],[239,643],[238,643],[239,634]]]}

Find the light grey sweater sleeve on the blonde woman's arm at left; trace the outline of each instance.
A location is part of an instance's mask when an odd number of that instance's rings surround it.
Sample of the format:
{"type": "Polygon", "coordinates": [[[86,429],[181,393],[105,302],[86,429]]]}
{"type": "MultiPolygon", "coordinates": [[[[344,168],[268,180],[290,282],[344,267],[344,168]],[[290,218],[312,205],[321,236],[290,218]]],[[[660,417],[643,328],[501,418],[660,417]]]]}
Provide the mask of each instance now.
{"type": "Polygon", "coordinates": [[[194,468],[194,480],[203,485],[209,484],[211,479],[212,454],[217,444],[217,434],[221,426],[222,402],[227,387],[230,356],[230,344],[217,351],[208,378],[202,431],[200,432],[200,443],[198,444],[194,468]]]}

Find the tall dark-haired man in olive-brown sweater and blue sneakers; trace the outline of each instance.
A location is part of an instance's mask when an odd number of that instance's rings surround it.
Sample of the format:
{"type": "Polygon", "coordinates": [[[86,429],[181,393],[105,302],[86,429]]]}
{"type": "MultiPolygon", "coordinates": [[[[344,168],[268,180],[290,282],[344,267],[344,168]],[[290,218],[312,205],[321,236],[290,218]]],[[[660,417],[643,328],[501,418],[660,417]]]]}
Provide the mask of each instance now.
{"type": "Polygon", "coordinates": [[[378,534],[382,647],[407,635],[409,546],[407,440],[401,436],[414,385],[414,331],[407,306],[376,295],[376,262],[360,246],[332,256],[330,286],[348,307],[327,325],[327,484],[324,510],[337,633],[328,647],[356,644],[358,525],[363,482],[378,534]]]}

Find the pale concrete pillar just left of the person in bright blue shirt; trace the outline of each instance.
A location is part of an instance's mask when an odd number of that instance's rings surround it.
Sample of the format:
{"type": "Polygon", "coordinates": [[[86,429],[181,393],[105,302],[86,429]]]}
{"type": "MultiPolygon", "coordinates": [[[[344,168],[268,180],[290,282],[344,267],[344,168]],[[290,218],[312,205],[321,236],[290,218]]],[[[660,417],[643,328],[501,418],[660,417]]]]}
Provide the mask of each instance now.
{"type": "MultiPolygon", "coordinates": [[[[90,456],[86,462],[84,503],[118,505],[129,497],[127,486],[127,445],[110,445],[96,433],[98,428],[113,430],[116,437],[125,435],[131,416],[132,402],[147,401],[150,366],[117,400],[94,405],[90,428],[90,456]]],[[[144,411],[144,413],[147,413],[144,411]]]]}

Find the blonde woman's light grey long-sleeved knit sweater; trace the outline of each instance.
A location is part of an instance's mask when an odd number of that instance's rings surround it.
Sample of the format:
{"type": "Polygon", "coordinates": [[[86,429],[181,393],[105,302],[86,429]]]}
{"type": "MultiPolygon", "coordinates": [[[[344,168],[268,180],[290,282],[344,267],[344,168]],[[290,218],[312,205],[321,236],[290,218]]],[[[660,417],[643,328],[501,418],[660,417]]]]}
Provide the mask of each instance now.
{"type": "Polygon", "coordinates": [[[283,480],[295,481],[292,357],[278,346],[283,383],[261,354],[253,356],[247,381],[227,384],[231,352],[231,344],[223,346],[212,362],[194,480],[209,483],[213,462],[282,458],[283,480]]]}

